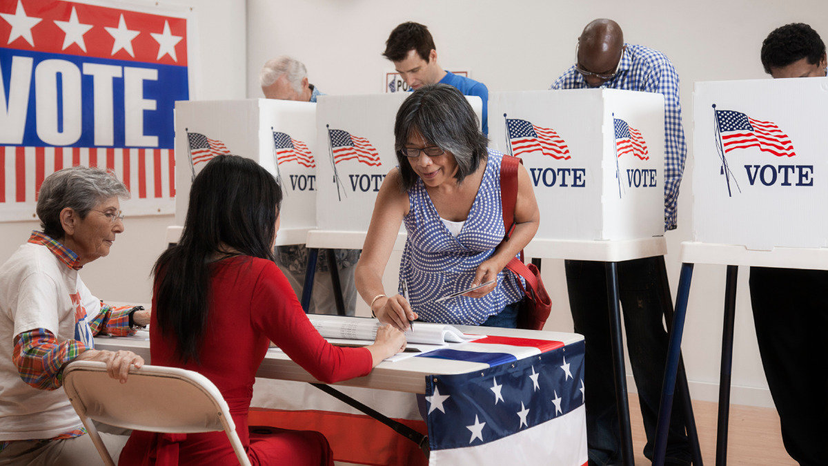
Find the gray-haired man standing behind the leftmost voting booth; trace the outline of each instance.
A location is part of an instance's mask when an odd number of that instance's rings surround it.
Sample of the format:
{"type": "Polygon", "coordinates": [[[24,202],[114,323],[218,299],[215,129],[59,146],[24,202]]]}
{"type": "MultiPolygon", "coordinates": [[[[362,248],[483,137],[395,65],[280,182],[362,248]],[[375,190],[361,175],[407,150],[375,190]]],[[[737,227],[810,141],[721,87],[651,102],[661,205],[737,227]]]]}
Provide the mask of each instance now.
{"type": "MultiPolygon", "coordinates": [[[[316,97],[324,95],[308,81],[305,65],[290,56],[277,56],[268,60],[259,72],[259,84],[262,85],[262,93],[267,99],[315,103],[316,97]]],[[[359,260],[359,253],[360,250],[334,250],[345,313],[350,316],[356,312],[357,289],[354,284],[354,267],[359,260]]],[[[336,300],[331,286],[330,269],[324,256],[319,255],[319,260],[316,261],[313,295],[307,311],[336,314],[336,300]]],[[[277,246],[276,263],[287,277],[296,296],[301,299],[308,263],[308,250],[305,245],[277,246]]]]}

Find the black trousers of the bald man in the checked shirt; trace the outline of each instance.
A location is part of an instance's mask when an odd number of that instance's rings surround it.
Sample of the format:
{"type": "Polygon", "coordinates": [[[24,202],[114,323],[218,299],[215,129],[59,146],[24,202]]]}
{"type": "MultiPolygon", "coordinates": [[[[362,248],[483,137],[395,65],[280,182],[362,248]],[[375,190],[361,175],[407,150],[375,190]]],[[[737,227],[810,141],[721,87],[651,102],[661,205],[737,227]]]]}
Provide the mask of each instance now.
{"type": "MultiPolygon", "coordinates": [[[[664,309],[657,260],[662,257],[618,263],[623,323],[647,434],[644,456],[648,459],[652,459],[655,446],[668,343],[662,323],[664,309]]],[[[566,260],[566,288],[575,332],[585,337],[586,438],[590,465],[621,464],[622,460],[604,267],[604,262],[566,260]]],[[[684,425],[684,411],[674,402],[666,464],[691,464],[684,425]]]]}

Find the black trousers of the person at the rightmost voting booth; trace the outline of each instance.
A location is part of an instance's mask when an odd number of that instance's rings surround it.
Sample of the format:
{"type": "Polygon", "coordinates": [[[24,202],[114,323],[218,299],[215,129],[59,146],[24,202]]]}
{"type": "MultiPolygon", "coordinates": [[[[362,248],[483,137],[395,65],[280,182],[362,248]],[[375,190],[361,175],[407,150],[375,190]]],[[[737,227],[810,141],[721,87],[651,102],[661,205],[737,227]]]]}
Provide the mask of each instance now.
{"type": "Polygon", "coordinates": [[[828,271],[750,268],[762,366],[799,464],[828,462],[828,271]]]}

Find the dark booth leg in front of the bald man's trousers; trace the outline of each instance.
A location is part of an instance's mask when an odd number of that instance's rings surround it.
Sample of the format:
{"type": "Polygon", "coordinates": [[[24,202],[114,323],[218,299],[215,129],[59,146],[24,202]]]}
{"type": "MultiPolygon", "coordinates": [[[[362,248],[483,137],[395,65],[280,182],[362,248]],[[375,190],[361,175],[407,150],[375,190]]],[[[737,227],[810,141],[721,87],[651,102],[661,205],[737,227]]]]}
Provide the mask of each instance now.
{"type": "Polygon", "coordinates": [[[619,411],[621,432],[621,456],[623,464],[633,466],[633,434],[629,426],[629,401],[627,393],[627,371],[623,363],[623,336],[621,335],[621,308],[619,306],[619,265],[607,262],[607,290],[609,291],[609,328],[613,347],[615,372],[615,402],[619,411]]]}

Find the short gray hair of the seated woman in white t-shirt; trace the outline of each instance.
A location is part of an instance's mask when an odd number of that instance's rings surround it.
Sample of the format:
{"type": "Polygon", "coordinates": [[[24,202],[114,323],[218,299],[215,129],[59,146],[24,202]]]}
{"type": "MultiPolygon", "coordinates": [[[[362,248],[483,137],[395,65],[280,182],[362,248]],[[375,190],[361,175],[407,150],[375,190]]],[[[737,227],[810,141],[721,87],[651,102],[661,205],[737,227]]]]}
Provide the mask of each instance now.
{"type": "Polygon", "coordinates": [[[118,196],[129,199],[129,191],[112,173],[94,167],[70,167],[52,173],[41,185],[37,198],[37,217],[46,235],[63,238],[60,211],[66,207],[86,218],[100,201],[118,196]]]}

